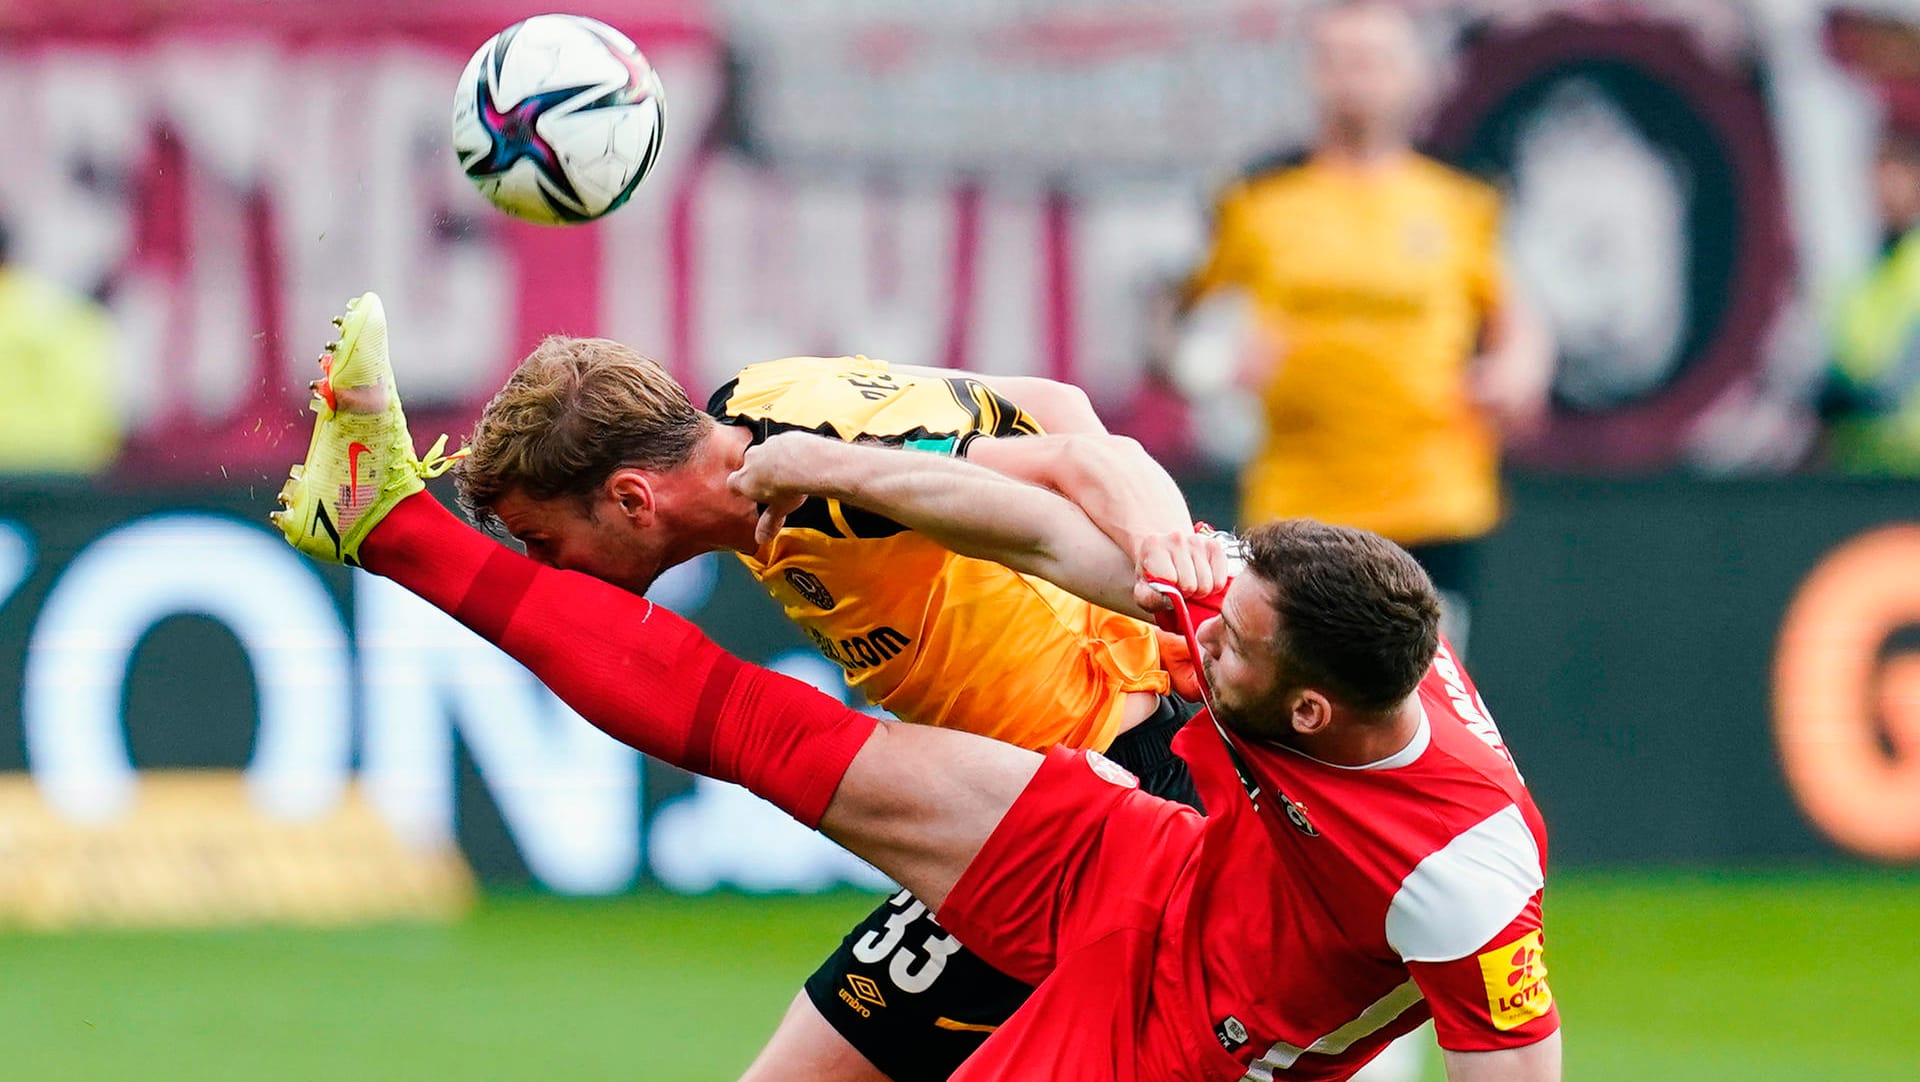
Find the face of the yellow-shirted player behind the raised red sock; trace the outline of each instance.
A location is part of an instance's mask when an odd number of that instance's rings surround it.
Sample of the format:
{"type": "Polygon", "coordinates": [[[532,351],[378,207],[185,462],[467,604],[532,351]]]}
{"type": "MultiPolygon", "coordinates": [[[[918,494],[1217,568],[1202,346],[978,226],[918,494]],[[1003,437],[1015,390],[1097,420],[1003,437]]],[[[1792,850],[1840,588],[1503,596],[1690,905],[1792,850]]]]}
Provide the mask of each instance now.
{"type": "Polygon", "coordinates": [[[532,560],[645,595],[664,570],[660,529],[639,529],[601,503],[507,493],[493,514],[532,560]]]}

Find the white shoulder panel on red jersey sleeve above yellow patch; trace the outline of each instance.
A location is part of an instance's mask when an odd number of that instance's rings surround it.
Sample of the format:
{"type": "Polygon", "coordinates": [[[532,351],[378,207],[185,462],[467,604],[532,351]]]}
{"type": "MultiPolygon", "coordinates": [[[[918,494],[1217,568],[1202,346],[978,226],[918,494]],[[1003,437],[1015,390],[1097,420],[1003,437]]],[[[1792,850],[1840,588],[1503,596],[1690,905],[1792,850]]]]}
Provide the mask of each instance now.
{"type": "Polygon", "coordinates": [[[1486,946],[1544,886],[1540,846],[1507,804],[1407,873],[1386,909],[1386,942],[1405,961],[1453,961],[1486,946]]]}

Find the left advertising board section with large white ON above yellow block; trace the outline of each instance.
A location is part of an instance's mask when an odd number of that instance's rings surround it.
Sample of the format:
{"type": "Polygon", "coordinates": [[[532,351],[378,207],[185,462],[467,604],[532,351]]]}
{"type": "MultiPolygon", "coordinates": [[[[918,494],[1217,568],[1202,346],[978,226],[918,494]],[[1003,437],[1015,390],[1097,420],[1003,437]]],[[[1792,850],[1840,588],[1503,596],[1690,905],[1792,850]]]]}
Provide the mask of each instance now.
{"type": "MultiPolygon", "coordinates": [[[[0,487],[0,925],[434,917],[476,879],[883,884],[643,762],[405,591],[300,558],[269,495],[0,487]]],[[[839,693],[718,562],[659,600],[839,693]]]]}

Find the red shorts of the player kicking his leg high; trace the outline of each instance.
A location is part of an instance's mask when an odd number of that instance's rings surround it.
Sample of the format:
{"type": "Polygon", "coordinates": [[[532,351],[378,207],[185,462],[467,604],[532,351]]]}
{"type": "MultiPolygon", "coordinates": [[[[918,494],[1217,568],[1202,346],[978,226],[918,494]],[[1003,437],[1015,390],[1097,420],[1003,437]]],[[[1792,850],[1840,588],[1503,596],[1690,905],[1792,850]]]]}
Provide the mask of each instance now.
{"type": "Polygon", "coordinates": [[[1169,992],[1202,825],[1098,754],[1046,754],[939,911],[977,955],[1039,986],[954,1082],[1190,1070],[1192,1026],[1169,992]]]}

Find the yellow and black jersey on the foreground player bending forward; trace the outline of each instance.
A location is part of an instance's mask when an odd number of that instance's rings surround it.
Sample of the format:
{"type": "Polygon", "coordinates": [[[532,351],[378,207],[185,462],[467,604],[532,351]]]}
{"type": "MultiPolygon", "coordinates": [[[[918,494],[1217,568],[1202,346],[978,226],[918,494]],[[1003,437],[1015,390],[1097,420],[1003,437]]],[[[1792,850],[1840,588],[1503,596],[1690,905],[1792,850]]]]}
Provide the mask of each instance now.
{"type": "MultiPolygon", "coordinates": [[[[866,357],[753,365],[707,411],[755,441],[804,430],[952,453],[975,437],[1041,432],[977,380],[902,374],[866,357]]],[[[1125,693],[1167,689],[1146,623],[841,501],[806,501],[741,562],[847,683],[902,721],[1100,750],[1125,693]]]]}

